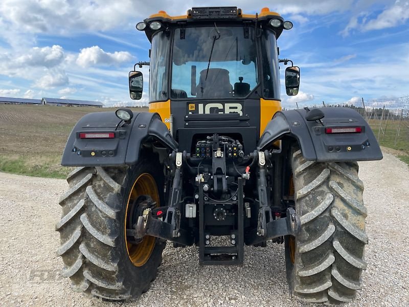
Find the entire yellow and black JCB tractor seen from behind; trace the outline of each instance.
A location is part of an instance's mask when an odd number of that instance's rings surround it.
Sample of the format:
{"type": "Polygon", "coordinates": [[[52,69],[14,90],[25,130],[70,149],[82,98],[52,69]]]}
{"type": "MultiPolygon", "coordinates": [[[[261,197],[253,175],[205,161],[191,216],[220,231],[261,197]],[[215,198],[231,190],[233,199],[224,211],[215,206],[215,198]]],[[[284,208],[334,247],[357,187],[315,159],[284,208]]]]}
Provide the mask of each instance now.
{"type": "MultiPolygon", "coordinates": [[[[149,113],[84,116],[62,157],[78,167],[56,225],[74,291],[138,297],[166,244],[199,247],[201,265],[242,265],[244,245],[272,241],[285,244],[294,296],[354,299],[368,244],[357,161],[382,154],[352,109],[281,111],[279,63],[292,61],[279,59],[277,39],[291,28],[267,8],[236,7],[137,24],[152,44],[138,63],[149,65],[149,113]]],[[[297,95],[298,67],[285,83],[297,95]]],[[[130,72],[132,99],[143,86],[130,72]]]]}

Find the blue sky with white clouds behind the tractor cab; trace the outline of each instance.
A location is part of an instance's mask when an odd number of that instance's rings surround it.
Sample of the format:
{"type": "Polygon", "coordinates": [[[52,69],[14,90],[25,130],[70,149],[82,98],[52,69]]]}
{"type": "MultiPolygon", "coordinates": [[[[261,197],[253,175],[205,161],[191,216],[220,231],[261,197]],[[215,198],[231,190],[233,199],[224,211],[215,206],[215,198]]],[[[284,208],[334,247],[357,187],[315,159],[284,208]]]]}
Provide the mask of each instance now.
{"type": "Polygon", "coordinates": [[[0,96],[147,104],[147,93],[135,102],[128,92],[128,72],[149,60],[135,24],[159,10],[220,5],[253,14],[268,6],[293,22],[278,45],[300,67],[301,86],[291,97],[282,89],[283,106],[409,95],[408,0],[1,0],[0,96]]]}

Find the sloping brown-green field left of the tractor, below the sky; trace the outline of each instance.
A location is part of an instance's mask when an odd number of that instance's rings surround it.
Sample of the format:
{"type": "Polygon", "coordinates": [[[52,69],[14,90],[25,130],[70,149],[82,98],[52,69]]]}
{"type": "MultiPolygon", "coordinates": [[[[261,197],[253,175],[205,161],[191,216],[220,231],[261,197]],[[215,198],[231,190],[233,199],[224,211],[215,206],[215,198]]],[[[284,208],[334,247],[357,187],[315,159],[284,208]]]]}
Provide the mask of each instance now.
{"type": "Polygon", "coordinates": [[[74,125],[87,113],[115,109],[0,104],[0,171],[65,178],[72,168],[60,165],[61,154],[74,125]]]}

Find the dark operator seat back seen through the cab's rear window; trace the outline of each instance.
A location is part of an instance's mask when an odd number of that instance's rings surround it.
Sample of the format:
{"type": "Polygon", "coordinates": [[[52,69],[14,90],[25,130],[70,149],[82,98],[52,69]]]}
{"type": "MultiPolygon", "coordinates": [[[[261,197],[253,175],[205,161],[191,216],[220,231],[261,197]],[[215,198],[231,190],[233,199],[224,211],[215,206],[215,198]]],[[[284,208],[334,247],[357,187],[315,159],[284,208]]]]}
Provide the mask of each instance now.
{"type": "Polygon", "coordinates": [[[197,98],[230,97],[233,86],[230,84],[229,71],[222,68],[210,68],[206,79],[207,69],[200,72],[199,84],[196,86],[197,98]]]}

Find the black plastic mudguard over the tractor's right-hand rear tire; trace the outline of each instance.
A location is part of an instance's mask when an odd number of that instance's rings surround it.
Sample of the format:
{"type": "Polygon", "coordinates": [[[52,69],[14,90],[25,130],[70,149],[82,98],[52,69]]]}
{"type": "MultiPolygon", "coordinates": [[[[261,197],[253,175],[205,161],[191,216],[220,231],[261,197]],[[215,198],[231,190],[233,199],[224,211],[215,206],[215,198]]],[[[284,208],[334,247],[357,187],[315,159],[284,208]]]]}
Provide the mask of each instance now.
{"type": "Polygon", "coordinates": [[[304,158],[317,162],[381,160],[382,152],[369,124],[356,111],[344,107],[320,108],[325,117],[307,121],[305,109],[278,112],[258,142],[264,150],[272,143],[298,141],[304,158]],[[325,128],[361,127],[361,133],[326,134],[325,128]]]}

